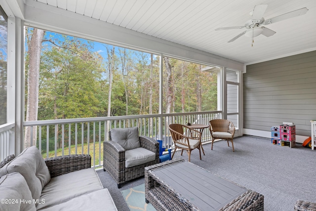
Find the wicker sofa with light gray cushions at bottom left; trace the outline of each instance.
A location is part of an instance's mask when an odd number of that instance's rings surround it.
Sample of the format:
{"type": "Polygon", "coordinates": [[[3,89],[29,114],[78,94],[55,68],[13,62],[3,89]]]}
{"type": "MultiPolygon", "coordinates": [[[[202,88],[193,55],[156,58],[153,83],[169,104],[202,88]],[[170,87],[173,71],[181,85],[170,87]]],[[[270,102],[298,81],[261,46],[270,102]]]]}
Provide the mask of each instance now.
{"type": "Polygon", "coordinates": [[[35,146],[0,169],[0,199],[1,211],[117,211],[90,155],[44,160],[35,146]]]}

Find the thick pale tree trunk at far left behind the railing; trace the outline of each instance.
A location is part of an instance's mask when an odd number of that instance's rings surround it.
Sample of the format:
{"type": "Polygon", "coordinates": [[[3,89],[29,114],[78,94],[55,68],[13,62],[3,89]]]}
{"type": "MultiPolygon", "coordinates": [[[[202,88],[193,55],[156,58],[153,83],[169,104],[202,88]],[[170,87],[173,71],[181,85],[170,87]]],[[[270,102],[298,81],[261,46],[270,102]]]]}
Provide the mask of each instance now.
{"type": "MultiPolygon", "coordinates": [[[[28,73],[28,98],[26,108],[26,121],[38,120],[39,107],[39,78],[40,78],[40,51],[41,42],[45,31],[34,29],[29,46],[29,73],[28,73]]],[[[37,145],[37,127],[33,127],[33,145],[37,145]]],[[[24,136],[24,147],[31,146],[31,128],[26,127],[24,136]]]]}

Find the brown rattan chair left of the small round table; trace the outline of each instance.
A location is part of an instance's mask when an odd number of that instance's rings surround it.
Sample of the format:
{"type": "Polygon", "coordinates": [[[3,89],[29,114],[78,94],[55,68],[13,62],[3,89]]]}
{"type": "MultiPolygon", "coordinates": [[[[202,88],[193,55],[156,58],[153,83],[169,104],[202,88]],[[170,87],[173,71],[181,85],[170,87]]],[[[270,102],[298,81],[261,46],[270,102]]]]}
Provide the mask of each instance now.
{"type": "Polygon", "coordinates": [[[201,143],[199,141],[200,132],[196,129],[192,129],[190,127],[187,127],[185,125],[180,124],[171,124],[169,125],[169,130],[174,142],[175,149],[173,151],[172,157],[174,156],[174,153],[177,149],[181,149],[181,156],[183,153],[183,150],[186,150],[188,152],[189,156],[189,162],[190,162],[190,156],[191,151],[198,148],[199,150],[199,159],[201,158],[201,143]]]}

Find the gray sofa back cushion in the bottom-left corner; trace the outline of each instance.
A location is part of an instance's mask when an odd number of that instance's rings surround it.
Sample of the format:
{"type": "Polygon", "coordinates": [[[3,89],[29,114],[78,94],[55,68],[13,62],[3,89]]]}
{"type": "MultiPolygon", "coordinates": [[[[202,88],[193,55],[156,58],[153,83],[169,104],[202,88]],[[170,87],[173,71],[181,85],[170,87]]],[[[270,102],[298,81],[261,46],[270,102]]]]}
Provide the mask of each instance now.
{"type": "Polygon", "coordinates": [[[0,199],[1,211],[36,211],[29,186],[18,172],[0,178],[0,199]]]}

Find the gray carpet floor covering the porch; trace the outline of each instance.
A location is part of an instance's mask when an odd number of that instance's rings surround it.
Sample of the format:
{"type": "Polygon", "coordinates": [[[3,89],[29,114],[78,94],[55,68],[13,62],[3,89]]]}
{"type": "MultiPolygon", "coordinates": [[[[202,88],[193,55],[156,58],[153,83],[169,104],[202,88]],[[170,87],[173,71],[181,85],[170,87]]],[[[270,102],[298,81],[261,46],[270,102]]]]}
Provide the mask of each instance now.
{"type": "MultiPolygon", "coordinates": [[[[242,136],[234,139],[235,152],[226,141],[203,145],[205,156],[199,160],[198,150],[191,162],[241,186],[264,195],[265,211],[292,211],[296,200],[316,202],[316,151],[296,144],[295,148],[276,146],[271,139],[242,136]]],[[[174,158],[188,160],[176,152],[174,158]]],[[[112,177],[97,170],[108,188],[118,211],[129,211],[121,190],[144,183],[144,177],[125,183],[120,189],[112,177]]]]}

